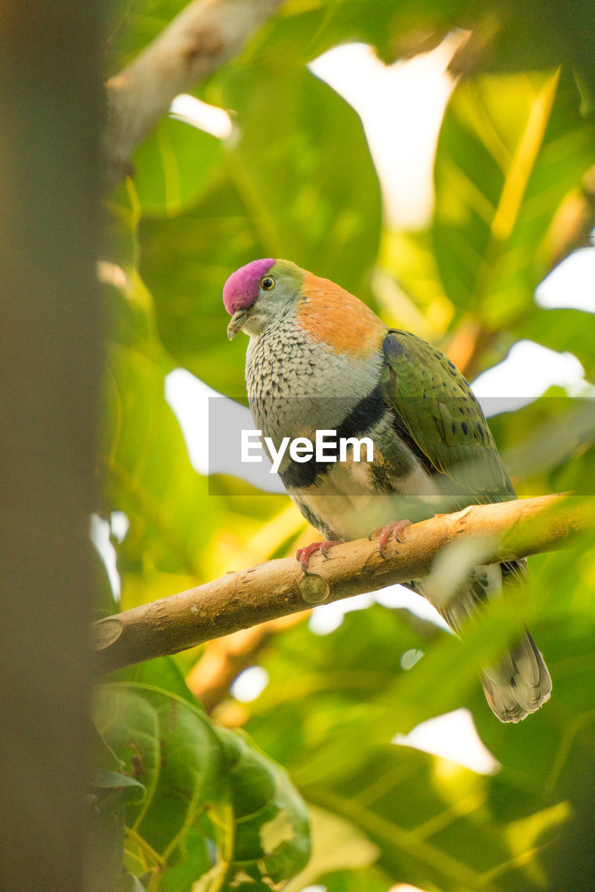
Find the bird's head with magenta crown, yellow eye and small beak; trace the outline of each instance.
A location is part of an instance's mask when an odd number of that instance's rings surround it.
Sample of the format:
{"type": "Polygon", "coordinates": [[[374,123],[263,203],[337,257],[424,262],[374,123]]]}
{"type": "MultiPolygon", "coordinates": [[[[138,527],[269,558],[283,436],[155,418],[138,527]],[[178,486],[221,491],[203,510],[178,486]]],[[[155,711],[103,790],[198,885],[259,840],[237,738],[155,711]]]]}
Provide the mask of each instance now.
{"type": "Polygon", "coordinates": [[[305,272],[290,260],[252,260],[236,269],[223,286],[223,303],[231,317],[231,341],[240,328],[260,335],[293,310],[302,293],[305,272]]]}

